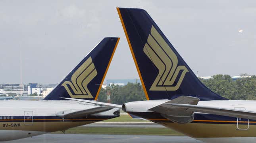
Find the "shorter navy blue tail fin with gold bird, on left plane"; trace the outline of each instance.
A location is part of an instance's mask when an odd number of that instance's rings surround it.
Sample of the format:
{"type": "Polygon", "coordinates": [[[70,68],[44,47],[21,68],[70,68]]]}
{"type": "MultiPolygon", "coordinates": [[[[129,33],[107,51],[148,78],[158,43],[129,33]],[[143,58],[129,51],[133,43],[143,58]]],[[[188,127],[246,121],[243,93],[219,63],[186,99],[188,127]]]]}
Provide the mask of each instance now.
{"type": "Polygon", "coordinates": [[[119,38],[104,38],[44,100],[97,100],[118,41],[119,38]]]}

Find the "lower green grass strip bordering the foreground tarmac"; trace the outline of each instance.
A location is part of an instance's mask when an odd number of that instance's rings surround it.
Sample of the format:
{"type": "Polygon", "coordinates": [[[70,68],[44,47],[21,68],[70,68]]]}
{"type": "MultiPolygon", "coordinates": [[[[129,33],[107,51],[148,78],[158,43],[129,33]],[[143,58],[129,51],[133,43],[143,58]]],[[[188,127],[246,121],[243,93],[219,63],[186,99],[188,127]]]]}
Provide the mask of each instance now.
{"type": "MultiPolygon", "coordinates": [[[[54,132],[61,134],[62,132],[54,132]]],[[[75,127],[65,131],[66,134],[119,134],[119,135],[183,135],[168,128],[104,128],[75,127]]]]}

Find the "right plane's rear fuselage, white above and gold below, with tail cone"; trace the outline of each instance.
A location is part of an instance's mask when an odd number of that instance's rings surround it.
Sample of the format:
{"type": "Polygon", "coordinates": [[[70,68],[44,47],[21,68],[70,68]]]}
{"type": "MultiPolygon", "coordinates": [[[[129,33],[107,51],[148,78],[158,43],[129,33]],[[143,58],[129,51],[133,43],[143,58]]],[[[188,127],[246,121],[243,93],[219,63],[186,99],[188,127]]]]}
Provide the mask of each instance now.
{"type": "MultiPolygon", "coordinates": [[[[164,118],[159,113],[148,110],[167,101],[168,100],[147,100],[128,102],[125,103],[126,112],[162,124],[205,142],[256,142],[256,120],[196,112],[194,113],[194,120],[191,123],[180,124],[164,118]]],[[[212,100],[199,101],[197,105],[256,112],[256,101],[212,100]]]]}

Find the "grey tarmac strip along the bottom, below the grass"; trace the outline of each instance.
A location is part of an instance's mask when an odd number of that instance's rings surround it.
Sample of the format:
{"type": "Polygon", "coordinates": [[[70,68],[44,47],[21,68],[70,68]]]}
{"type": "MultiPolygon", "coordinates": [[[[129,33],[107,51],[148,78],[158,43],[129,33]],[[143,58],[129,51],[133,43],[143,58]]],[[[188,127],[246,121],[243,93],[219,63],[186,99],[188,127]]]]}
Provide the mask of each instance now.
{"type": "Polygon", "coordinates": [[[44,134],[4,143],[203,143],[187,136],[44,134]]]}

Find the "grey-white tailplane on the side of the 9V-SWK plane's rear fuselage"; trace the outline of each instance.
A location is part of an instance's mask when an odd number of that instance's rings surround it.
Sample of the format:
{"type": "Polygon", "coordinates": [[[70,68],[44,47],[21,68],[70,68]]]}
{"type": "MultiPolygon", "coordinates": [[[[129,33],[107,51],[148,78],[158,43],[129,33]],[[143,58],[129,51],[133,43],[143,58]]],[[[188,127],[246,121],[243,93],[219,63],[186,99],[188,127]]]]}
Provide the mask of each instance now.
{"type": "Polygon", "coordinates": [[[113,109],[113,107],[99,106],[91,109],[78,110],[78,111],[74,109],[70,109],[70,110],[58,112],[56,115],[58,117],[64,117],[64,118],[77,118],[77,117],[85,117],[87,115],[91,115],[94,113],[108,111],[110,109],[113,109]]]}

